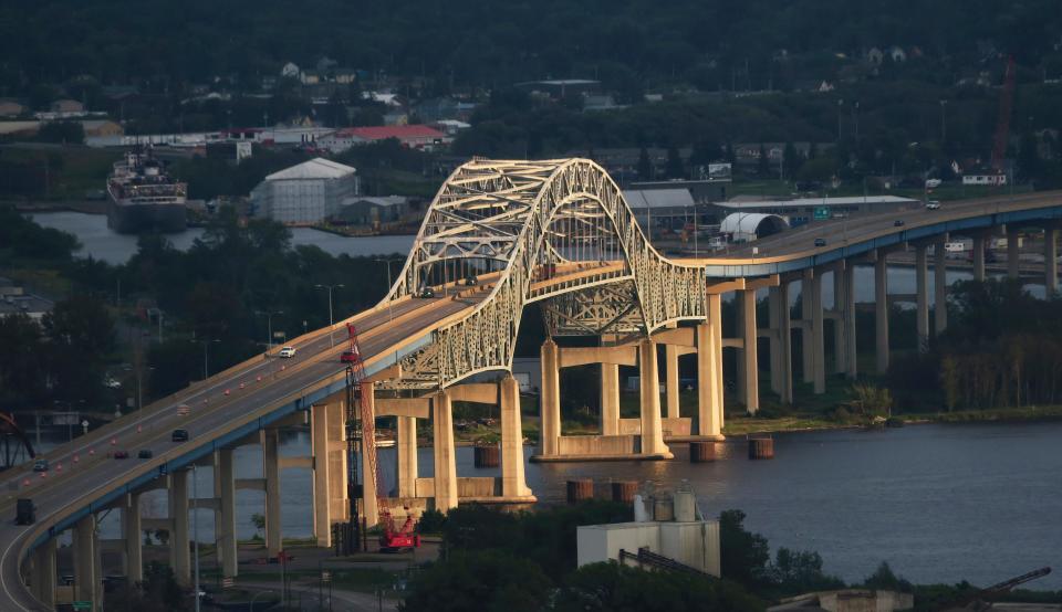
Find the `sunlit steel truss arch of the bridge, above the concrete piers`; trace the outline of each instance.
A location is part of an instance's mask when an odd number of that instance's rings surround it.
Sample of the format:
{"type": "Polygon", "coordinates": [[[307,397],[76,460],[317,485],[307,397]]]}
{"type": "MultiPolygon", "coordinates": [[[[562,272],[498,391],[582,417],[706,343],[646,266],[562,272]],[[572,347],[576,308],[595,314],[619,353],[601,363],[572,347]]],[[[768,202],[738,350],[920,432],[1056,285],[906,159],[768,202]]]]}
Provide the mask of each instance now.
{"type": "MultiPolygon", "coordinates": [[[[660,255],[620,187],[587,159],[472,159],[431,202],[382,304],[423,287],[489,289],[468,315],[402,360],[385,387],[445,388],[509,370],[523,307],[543,303],[551,335],[650,334],[706,316],[704,266],[660,255]],[[560,274],[563,272],[563,274],[560,274]]],[[[459,297],[458,297],[459,298],[459,297]]]]}

